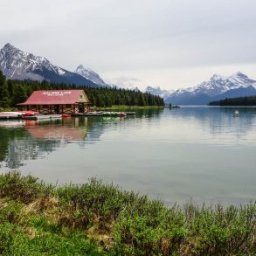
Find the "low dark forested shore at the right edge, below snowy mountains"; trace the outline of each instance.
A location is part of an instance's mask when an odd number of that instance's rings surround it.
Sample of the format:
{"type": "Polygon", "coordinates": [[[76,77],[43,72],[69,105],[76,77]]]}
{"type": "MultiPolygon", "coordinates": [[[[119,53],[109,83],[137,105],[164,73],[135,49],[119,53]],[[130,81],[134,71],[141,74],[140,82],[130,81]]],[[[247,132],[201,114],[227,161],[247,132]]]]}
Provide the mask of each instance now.
{"type": "Polygon", "coordinates": [[[225,98],[225,100],[211,101],[210,106],[256,106],[256,95],[238,98],[225,98]]]}

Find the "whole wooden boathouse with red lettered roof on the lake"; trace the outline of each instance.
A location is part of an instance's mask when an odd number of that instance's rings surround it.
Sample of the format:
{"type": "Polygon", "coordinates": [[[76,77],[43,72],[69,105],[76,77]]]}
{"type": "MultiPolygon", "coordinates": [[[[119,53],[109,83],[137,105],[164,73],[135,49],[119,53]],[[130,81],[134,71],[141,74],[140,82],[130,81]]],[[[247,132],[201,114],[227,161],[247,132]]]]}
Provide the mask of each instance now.
{"type": "Polygon", "coordinates": [[[85,113],[90,105],[84,90],[34,91],[28,100],[17,104],[18,108],[40,114],[85,113]]]}

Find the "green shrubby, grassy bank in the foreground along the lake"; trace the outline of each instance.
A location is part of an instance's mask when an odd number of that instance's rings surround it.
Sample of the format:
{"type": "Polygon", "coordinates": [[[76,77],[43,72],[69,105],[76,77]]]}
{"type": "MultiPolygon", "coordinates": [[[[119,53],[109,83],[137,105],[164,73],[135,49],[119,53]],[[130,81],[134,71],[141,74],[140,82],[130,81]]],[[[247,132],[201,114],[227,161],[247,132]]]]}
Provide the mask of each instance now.
{"type": "Polygon", "coordinates": [[[167,208],[92,179],[0,175],[0,255],[255,255],[256,205],[167,208]]]}

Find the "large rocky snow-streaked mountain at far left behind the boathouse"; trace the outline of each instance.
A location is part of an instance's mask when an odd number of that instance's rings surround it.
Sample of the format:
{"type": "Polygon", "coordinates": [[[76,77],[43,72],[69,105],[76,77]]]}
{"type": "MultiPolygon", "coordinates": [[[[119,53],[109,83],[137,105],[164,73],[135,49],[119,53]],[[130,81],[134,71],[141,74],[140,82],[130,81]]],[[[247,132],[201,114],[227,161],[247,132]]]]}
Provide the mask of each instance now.
{"type": "Polygon", "coordinates": [[[99,86],[78,73],[53,65],[48,59],[6,44],[0,50],[0,69],[10,80],[47,80],[77,86],[99,86]]]}

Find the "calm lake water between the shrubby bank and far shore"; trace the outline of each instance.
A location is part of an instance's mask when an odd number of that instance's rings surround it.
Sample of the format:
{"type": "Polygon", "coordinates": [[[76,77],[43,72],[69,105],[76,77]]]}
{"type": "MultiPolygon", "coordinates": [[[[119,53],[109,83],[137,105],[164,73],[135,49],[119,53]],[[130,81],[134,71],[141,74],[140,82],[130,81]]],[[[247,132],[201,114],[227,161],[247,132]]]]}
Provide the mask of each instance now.
{"type": "Polygon", "coordinates": [[[165,204],[245,204],[256,196],[256,108],[181,107],[135,117],[0,121],[0,172],[46,182],[89,177],[165,204]]]}

